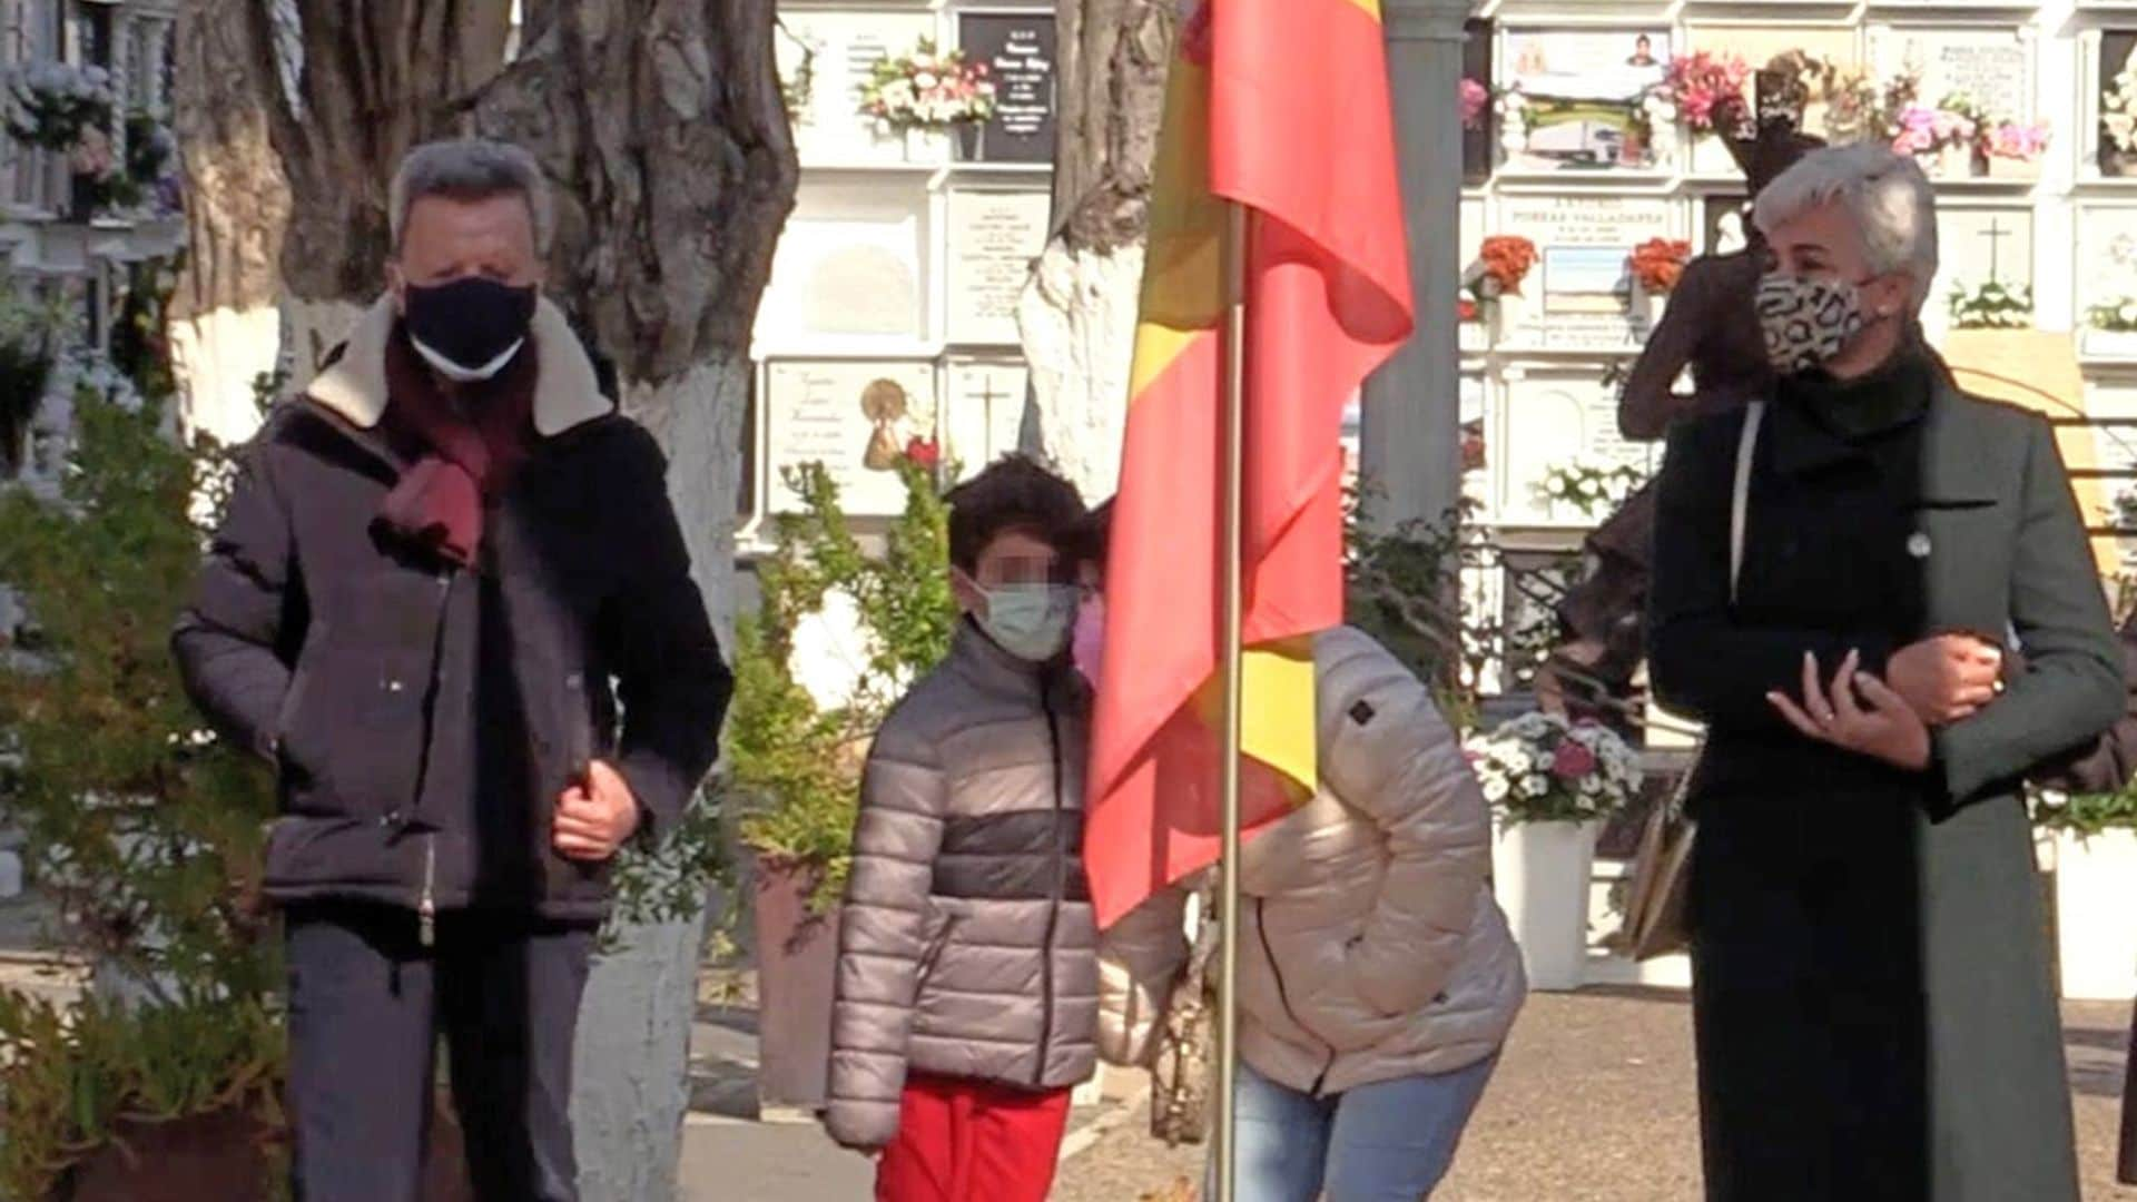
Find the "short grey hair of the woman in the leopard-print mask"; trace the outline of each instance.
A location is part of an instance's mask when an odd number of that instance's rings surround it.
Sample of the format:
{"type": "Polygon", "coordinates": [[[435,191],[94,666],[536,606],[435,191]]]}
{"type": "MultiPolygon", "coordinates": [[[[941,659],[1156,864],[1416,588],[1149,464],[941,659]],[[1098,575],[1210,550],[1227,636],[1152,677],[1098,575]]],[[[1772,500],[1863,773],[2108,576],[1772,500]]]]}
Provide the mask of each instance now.
{"type": "Polygon", "coordinates": [[[1752,220],[1763,233],[1840,201],[1861,233],[1870,269],[1915,280],[1915,308],[1936,278],[1936,188],[1910,156],[1857,141],[1812,150],[1759,192],[1752,220]]]}

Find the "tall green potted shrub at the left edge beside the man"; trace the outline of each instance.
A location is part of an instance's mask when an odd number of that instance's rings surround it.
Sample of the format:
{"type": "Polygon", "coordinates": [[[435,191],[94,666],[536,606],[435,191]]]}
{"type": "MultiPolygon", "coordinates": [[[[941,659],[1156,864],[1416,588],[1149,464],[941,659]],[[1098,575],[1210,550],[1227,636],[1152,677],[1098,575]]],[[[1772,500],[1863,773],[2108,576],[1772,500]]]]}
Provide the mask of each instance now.
{"type": "Polygon", "coordinates": [[[94,992],[56,1007],[0,990],[0,1198],[271,1196],[286,1142],[280,939],[259,900],[274,787],[201,729],[162,622],[143,620],[190,595],[218,520],[194,503],[218,500],[233,464],[177,443],[167,391],[68,372],[60,494],[0,494],[0,580],[36,631],[0,663],[0,806],[94,992]]]}

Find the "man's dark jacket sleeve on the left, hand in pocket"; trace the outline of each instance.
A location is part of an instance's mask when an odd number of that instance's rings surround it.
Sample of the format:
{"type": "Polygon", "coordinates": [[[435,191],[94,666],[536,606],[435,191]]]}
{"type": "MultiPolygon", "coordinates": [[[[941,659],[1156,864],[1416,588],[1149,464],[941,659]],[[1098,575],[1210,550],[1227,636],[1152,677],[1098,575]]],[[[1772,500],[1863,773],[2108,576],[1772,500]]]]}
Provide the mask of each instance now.
{"type": "Polygon", "coordinates": [[[192,704],[222,738],[267,759],[308,620],[271,447],[269,426],[239,453],[222,526],[171,635],[192,704]]]}

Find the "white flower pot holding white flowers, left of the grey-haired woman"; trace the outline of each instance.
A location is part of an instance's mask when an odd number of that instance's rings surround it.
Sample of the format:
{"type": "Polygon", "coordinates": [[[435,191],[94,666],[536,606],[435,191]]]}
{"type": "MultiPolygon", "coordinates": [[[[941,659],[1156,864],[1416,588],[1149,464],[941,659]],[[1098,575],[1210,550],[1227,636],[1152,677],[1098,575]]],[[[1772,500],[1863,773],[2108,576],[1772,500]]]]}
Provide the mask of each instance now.
{"type": "Polygon", "coordinates": [[[1507,911],[1530,988],[1575,990],[1588,967],[1588,877],[1601,821],[1498,826],[1492,890],[1507,911]]]}

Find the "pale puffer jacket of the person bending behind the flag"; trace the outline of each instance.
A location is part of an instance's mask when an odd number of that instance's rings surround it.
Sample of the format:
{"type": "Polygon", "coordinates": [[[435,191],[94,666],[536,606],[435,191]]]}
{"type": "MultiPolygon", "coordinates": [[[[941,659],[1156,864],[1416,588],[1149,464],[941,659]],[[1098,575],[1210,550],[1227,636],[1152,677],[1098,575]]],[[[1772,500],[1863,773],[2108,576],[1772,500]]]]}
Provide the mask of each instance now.
{"type": "MultiPolygon", "coordinates": [[[[1314,639],[1321,789],[1239,868],[1239,1054],[1333,1095],[1475,1065],[1528,995],[1492,898],[1492,823],[1417,676],[1353,629],[1314,639]]],[[[1186,890],[1105,933],[1098,1042],[1143,1063],[1186,960],[1186,890]]]]}

